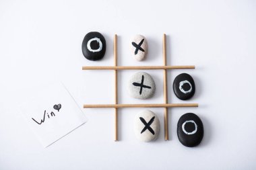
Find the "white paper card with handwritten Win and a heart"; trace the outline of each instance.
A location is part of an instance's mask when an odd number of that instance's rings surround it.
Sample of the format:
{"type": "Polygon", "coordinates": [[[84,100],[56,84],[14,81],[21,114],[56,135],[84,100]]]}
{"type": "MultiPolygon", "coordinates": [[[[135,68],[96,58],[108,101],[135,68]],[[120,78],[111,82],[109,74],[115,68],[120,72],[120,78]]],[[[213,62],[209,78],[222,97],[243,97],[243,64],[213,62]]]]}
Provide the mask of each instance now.
{"type": "Polygon", "coordinates": [[[25,119],[44,147],[86,123],[86,116],[62,83],[40,91],[21,106],[25,119]]]}

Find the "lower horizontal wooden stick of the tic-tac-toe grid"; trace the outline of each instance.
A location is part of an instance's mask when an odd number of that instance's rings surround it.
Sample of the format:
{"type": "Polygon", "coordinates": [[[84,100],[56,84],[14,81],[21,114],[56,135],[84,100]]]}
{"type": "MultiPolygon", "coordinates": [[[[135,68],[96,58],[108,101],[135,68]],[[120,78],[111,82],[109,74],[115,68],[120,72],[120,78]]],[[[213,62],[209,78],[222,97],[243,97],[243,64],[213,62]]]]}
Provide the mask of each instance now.
{"type": "Polygon", "coordinates": [[[198,107],[197,103],[160,103],[160,104],[86,104],[84,108],[185,108],[198,107]]]}

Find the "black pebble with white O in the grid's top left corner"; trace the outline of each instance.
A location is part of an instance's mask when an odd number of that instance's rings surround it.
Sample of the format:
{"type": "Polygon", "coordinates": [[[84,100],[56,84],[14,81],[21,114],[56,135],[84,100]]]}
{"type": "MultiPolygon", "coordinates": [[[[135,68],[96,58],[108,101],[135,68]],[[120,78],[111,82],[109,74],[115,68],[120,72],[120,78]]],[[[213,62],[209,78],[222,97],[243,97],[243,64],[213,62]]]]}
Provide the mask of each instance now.
{"type": "Polygon", "coordinates": [[[100,60],[106,52],[106,40],[99,32],[89,32],[84,37],[82,52],[88,60],[100,60]]]}

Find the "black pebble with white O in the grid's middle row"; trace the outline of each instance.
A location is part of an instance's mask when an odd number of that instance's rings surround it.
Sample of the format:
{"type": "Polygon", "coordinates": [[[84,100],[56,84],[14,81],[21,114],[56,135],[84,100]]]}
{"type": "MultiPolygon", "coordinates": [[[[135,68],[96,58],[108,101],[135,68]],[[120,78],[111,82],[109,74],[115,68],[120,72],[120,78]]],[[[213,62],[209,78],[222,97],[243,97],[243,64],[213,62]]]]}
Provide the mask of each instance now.
{"type": "Polygon", "coordinates": [[[174,94],[182,100],[190,99],[195,94],[195,82],[191,75],[182,73],[173,81],[174,94]]]}

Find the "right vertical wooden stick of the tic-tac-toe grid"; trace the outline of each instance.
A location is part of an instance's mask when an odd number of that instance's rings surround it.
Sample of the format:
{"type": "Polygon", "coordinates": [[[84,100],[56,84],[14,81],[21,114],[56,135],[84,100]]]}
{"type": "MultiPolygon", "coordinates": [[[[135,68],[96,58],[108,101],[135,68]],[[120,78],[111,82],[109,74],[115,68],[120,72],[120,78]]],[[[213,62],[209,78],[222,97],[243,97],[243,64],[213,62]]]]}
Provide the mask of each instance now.
{"type": "MultiPolygon", "coordinates": [[[[164,60],[164,66],[166,66],[166,35],[162,37],[162,56],[164,60]]],[[[168,103],[168,93],[167,93],[167,73],[164,69],[164,103],[168,103]]],[[[169,140],[168,132],[168,108],[164,108],[164,140],[169,140]]]]}

